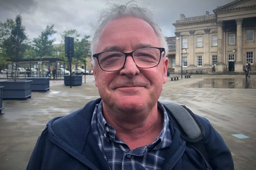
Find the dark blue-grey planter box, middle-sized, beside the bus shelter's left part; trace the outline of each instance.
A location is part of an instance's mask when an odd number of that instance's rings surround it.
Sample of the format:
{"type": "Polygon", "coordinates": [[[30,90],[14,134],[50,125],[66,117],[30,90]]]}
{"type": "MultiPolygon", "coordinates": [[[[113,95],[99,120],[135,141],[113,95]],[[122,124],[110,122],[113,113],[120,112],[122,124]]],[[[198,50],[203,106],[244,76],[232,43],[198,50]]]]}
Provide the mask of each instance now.
{"type": "Polygon", "coordinates": [[[50,77],[30,77],[32,81],[32,91],[46,91],[50,89],[50,77]]]}

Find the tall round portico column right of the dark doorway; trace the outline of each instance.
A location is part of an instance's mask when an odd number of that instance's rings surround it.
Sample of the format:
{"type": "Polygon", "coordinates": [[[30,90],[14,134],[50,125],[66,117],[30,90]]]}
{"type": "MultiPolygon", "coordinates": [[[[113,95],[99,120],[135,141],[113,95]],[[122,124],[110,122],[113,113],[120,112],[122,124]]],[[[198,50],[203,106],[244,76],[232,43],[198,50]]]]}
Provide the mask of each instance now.
{"type": "Polygon", "coordinates": [[[242,63],[242,42],[243,42],[243,31],[242,31],[243,18],[236,19],[236,56],[235,56],[235,72],[243,72],[242,63]]]}

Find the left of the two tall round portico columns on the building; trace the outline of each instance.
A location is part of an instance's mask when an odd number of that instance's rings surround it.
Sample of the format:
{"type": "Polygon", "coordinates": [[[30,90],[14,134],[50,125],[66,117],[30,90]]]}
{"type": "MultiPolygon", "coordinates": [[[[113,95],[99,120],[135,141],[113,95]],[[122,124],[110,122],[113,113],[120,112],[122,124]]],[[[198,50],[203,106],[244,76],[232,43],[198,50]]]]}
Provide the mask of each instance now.
{"type": "Polygon", "coordinates": [[[223,21],[217,21],[218,39],[217,39],[217,64],[215,67],[216,72],[224,71],[223,64],[223,21]]]}

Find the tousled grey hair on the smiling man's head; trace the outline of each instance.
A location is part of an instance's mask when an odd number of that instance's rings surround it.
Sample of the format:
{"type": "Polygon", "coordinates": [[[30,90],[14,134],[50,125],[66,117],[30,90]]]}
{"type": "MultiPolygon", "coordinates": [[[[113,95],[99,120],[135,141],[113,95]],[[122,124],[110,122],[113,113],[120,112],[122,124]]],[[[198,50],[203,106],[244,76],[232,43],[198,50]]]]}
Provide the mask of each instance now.
{"type": "MultiPolygon", "coordinates": [[[[97,51],[97,46],[99,42],[99,35],[102,29],[111,21],[116,20],[121,17],[136,17],[141,20],[148,22],[156,33],[160,46],[165,48],[165,55],[168,55],[168,46],[166,42],[166,37],[162,33],[161,28],[153,19],[153,13],[146,7],[138,6],[135,1],[129,1],[126,4],[115,4],[108,3],[109,8],[103,9],[100,13],[99,20],[97,24],[92,29],[92,40],[91,40],[91,53],[95,54],[97,51]]],[[[92,66],[95,67],[95,61],[91,56],[92,66]]]]}

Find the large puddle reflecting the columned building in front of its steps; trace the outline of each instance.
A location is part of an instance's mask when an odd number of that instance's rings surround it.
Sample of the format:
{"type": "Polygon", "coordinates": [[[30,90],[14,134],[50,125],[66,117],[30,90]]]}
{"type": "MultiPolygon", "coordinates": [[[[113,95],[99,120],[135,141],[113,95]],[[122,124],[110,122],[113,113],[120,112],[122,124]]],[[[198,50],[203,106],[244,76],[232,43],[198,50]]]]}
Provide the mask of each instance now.
{"type": "Polygon", "coordinates": [[[254,89],[254,80],[245,81],[245,78],[207,78],[203,81],[189,85],[192,88],[249,88],[254,89]]]}

